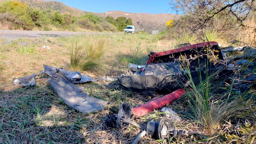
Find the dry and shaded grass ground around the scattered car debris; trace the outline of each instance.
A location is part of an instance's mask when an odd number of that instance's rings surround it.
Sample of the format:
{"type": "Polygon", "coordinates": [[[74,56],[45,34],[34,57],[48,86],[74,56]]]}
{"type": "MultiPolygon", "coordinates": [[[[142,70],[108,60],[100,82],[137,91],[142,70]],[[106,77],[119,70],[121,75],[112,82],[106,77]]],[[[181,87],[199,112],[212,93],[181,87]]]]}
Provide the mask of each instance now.
{"type": "MultiPolygon", "coordinates": [[[[115,34],[103,37],[109,41],[107,45],[105,42],[99,42],[101,39],[98,35],[18,39],[8,45],[0,43],[0,61],[4,64],[4,68],[0,72],[0,141],[3,143],[131,143],[140,130],[132,125],[123,129],[106,129],[104,126],[106,114],[117,113],[119,105],[124,101],[128,101],[135,107],[162,95],[141,96],[125,90],[118,81],[86,83],[79,86],[83,86],[90,96],[105,99],[109,101],[109,104],[100,112],[83,114],[64,104],[44,77],[37,79],[37,85],[34,87],[21,88],[12,84],[14,77],[40,72],[43,69],[43,64],[71,69],[69,47],[43,42],[47,39],[65,45],[71,39],[93,40],[93,44],[87,51],[91,52],[90,57],[95,57],[91,51],[93,48],[104,46],[106,53],[98,60],[102,62],[102,67],[106,69],[104,74],[107,75],[116,75],[127,70],[126,64],[117,62],[119,54],[136,54],[136,48],[138,48],[137,54],[146,57],[149,51],[158,52],[171,49],[173,42],[159,40],[157,43],[152,43],[153,36],[147,34],[115,34]],[[122,41],[119,40],[121,38],[122,41]],[[21,54],[18,52],[20,46],[16,45],[16,42],[33,43],[35,51],[32,54],[21,54]],[[48,45],[51,49],[43,49],[43,45],[48,45]],[[130,47],[135,51],[131,51],[130,47]]],[[[1,42],[3,41],[1,40],[1,42]]],[[[90,43],[88,44],[90,46],[90,43]]],[[[102,73],[94,71],[81,71],[81,73],[92,78],[103,76],[102,73]]],[[[183,119],[175,123],[177,129],[202,130],[198,121],[188,119],[186,113],[184,114],[187,108],[182,102],[176,101],[169,107],[175,109],[183,119]]],[[[135,119],[135,122],[146,126],[148,121],[162,118],[163,115],[158,112],[159,110],[151,112],[144,117],[135,119]]],[[[207,133],[203,134],[206,136],[173,138],[170,143],[207,139],[207,133]]],[[[211,140],[217,141],[216,139],[211,140]]],[[[203,142],[207,142],[207,140],[203,140],[203,142]]],[[[163,142],[144,137],[141,143],[163,142]]]]}

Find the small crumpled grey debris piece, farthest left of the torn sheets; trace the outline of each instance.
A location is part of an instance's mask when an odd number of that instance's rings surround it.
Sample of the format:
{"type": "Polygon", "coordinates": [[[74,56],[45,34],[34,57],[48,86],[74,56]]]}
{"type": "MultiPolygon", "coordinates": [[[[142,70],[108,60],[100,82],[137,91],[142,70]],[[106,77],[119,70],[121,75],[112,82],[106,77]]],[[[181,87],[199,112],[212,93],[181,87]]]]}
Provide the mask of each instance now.
{"type": "Polygon", "coordinates": [[[13,81],[14,85],[21,85],[23,87],[26,86],[34,86],[36,85],[35,77],[37,74],[32,74],[23,78],[17,78],[13,81]]]}

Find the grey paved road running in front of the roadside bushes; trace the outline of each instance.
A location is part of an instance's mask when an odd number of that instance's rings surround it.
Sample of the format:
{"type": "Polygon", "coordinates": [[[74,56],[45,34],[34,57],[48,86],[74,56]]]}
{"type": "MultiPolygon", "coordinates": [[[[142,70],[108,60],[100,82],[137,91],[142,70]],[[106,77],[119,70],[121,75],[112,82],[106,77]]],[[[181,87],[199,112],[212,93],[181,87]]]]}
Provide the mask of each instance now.
{"type": "Polygon", "coordinates": [[[25,38],[40,38],[43,36],[59,37],[59,36],[72,36],[72,35],[87,35],[87,34],[116,34],[106,32],[54,32],[54,31],[12,31],[12,30],[0,30],[0,37],[5,39],[18,39],[20,37],[25,38]]]}

